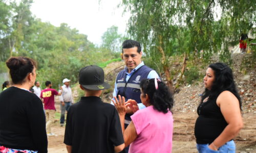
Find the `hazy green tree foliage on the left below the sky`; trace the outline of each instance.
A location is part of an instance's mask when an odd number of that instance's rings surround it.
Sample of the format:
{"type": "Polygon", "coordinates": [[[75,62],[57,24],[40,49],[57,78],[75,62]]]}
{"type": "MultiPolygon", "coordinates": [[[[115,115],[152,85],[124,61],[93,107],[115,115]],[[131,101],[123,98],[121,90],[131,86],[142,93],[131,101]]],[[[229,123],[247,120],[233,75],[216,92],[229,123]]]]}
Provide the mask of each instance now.
{"type": "Polygon", "coordinates": [[[50,80],[56,88],[64,78],[77,82],[80,68],[113,58],[109,54],[111,47],[96,47],[87,35],[71,29],[67,23],[55,27],[32,16],[32,3],[30,0],[20,3],[0,0],[0,73],[7,72],[5,61],[8,58],[30,57],[38,63],[37,80],[43,86],[50,80]]]}

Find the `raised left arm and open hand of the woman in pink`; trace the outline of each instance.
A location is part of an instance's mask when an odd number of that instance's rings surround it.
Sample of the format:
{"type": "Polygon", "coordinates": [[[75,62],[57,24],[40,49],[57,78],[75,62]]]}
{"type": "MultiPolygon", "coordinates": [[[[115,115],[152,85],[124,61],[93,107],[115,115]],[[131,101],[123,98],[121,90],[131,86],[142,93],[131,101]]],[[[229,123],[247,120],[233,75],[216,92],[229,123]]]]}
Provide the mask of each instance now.
{"type": "Polygon", "coordinates": [[[127,105],[128,101],[125,103],[124,97],[121,97],[120,95],[118,95],[118,99],[119,100],[117,100],[117,98],[115,97],[115,102],[114,101],[113,102],[118,111],[122,132],[123,132],[123,140],[126,147],[126,146],[129,146],[137,138],[138,135],[137,135],[133,121],[124,130],[124,116],[127,110],[125,105],[127,105]]]}

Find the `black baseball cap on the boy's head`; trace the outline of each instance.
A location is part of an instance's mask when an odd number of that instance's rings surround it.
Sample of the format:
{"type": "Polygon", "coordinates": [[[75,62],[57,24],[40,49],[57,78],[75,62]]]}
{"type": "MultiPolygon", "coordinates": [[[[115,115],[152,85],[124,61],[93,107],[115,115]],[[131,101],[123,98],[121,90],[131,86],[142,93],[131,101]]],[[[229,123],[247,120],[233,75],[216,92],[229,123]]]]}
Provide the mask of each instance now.
{"type": "Polygon", "coordinates": [[[97,65],[83,67],[79,72],[79,84],[89,90],[109,89],[110,85],[104,82],[104,71],[97,65]]]}

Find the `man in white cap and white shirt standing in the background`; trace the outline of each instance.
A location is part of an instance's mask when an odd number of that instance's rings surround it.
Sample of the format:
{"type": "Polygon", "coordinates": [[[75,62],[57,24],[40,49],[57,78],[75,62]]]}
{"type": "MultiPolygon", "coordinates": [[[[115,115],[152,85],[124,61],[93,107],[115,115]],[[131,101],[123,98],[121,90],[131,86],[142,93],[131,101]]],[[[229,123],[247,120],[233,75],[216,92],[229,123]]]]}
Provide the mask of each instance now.
{"type": "Polygon", "coordinates": [[[59,96],[60,100],[60,126],[64,125],[65,121],[65,112],[69,110],[69,107],[73,103],[73,98],[72,98],[72,90],[70,87],[70,80],[65,78],[62,81],[63,86],[62,86],[62,94],[59,96]]]}

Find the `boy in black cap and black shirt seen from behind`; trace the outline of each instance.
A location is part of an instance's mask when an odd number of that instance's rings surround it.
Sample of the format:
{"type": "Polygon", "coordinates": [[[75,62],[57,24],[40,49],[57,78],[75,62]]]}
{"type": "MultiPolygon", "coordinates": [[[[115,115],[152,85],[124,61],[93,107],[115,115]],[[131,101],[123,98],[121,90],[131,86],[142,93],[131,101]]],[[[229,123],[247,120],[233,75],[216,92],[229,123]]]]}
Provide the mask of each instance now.
{"type": "Polygon", "coordinates": [[[118,113],[99,97],[102,90],[110,88],[104,82],[103,69],[83,67],[79,84],[84,97],[68,111],[64,138],[68,152],[120,152],[124,141],[118,113]]]}

